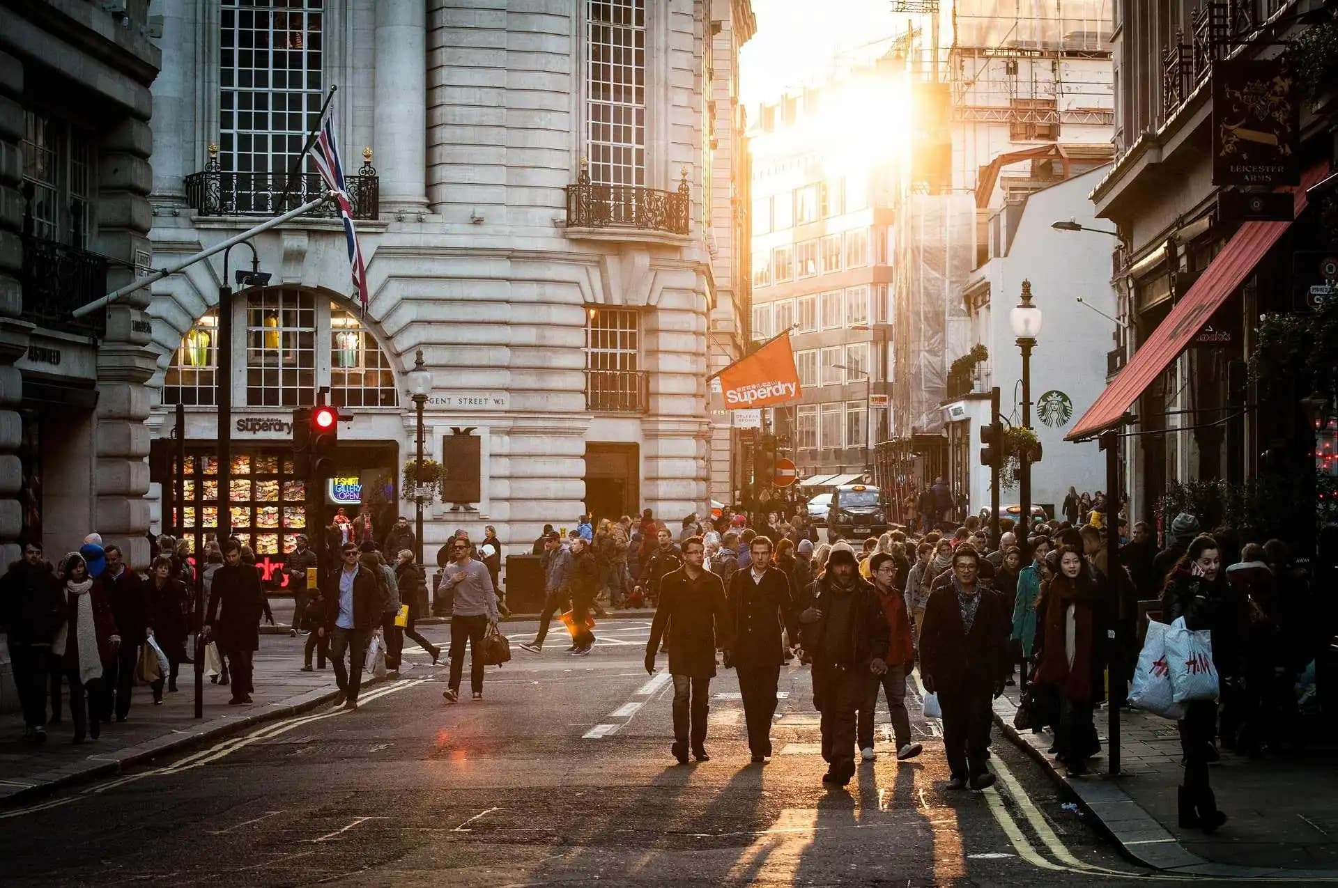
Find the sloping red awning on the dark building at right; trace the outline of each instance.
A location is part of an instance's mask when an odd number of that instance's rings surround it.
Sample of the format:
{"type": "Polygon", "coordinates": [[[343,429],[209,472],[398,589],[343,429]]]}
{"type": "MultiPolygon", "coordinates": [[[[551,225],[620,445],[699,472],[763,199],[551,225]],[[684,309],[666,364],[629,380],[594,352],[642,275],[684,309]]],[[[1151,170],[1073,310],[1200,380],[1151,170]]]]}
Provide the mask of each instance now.
{"type": "MultiPolygon", "coordinates": [[[[1299,218],[1306,209],[1306,189],[1327,174],[1327,162],[1321,163],[1302,175],[1299,187],[1291,189],[1295,194],[1294,218],[1299,218]]],[[[1064,440],[1088,439],[1119,423],[1129,405],[1189,345],[1212,313],[1240,286],[1259,259],[1290,227],[1291,222],[1242,225],[1064,440]]]]}

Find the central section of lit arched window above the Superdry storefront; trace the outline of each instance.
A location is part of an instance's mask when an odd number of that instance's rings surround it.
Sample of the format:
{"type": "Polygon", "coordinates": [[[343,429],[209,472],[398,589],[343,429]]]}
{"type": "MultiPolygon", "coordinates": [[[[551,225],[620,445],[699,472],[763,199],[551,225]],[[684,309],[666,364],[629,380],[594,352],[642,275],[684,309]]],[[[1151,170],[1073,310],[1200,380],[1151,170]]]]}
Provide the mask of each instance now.
{"type": "Polygon", "coordinates": [[[309,293],[269,288],[246,296],[246,404],[314,403],[316,304],[309,293]]]}

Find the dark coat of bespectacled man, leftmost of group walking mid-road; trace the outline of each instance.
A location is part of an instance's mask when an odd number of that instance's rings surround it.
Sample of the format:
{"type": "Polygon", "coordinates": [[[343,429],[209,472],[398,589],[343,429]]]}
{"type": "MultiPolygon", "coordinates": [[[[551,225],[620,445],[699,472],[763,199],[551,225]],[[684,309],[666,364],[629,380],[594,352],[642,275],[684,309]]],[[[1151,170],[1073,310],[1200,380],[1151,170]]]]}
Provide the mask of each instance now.
{"type": "Polygon", "coordinates": [[[666,574],[660,583],[660,603],[650,622],[648,661],[660,650],[666,630],[669,671],[689,678],[713,678],[716,649],[729,649],[733,641],[725,587],[720,578],[706,570],[696,580],[682,568],[666,574]]]}

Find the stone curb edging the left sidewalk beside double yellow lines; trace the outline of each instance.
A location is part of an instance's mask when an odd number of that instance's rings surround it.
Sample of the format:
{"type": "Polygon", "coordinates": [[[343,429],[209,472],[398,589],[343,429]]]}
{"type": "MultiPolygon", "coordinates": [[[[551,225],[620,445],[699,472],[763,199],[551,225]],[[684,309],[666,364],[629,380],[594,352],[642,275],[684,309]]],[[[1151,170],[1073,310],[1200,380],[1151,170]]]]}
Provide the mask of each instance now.
{"type": "MultiPolygon", "coordinates": [[[[388,679],[368,678],[363,681],[361,686],[372,687],[385,681],[388,679]]],[[[217,715],[214,718],[206,718],[199,725],[199,730],[182,730],[162,734],[159,737],[154,737],[153,740],[146,740],[142,744],[127,746],[126,749],[108,752],[102,756],[90,756],[79,764],[66,764],[55,770],[33,774],[31,777],[33,781],[31,785],[17,786],[12,792],[0,796],[0,809],[23,801],[31,801],[41,796],[48,796],[60,789],[68,789],[71,786],[91,782],[100,777],[111,777],[135,765],[153,761],[159,756],[186,752],[193,746],[201,746],[209,741],[221,740],[245,728],[254,728],[261,722],[288,715],[297,715],[312,709],[317,709],[322,703],[328,703],[334,699],[337,694],[337,689],[317,687],[306,691],[305,694],[298,694],[297,697],[289,697],[288,699],[266,703],[258,711],[253,711],[246,715],[217,715]]]]}

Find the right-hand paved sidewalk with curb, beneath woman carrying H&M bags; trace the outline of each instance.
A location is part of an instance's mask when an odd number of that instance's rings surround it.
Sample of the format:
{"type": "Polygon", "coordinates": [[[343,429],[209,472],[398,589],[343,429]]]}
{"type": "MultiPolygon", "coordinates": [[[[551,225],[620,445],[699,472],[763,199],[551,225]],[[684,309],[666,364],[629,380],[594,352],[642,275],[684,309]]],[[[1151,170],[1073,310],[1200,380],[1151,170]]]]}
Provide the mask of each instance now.
{"type": "Polygon", "coordinates": [[[1013,728],[1018,689],[994,701],[1004,736],[1030,752],[1065,785],[1085,813],[1121,849],[1149,867],[1196,876],[1262,879],[1338,877],[1338,770],[1326,758],[1268,757],[1251,761],[1222,752],[1212,768],[1218,806],[1230,820],[1215,835],[1180,829],[1180,740],[1176,724],[1143,711],[1120,713],[1120,777],[1105,774],[1107,713],[1096,713],[1101,756],[1092,774],[1070,780],[1045,750],[1049,732],[1013,728]]]}

